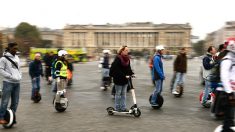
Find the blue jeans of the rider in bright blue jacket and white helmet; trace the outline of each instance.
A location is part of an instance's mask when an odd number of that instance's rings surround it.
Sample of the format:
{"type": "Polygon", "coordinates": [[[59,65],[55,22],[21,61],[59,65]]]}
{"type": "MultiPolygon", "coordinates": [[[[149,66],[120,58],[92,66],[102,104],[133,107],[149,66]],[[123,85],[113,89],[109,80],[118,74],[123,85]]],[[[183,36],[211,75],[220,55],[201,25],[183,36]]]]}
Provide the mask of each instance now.
{"type": "Polygon", "coordinates": [[[161,94],[162,92],[162,86],[163,86],[163,80],[159,79],[155,81],[155,89],[153,91],[152,94],[152,99],[151,99],[151,104],[155,104],[156,100],[157,100],[157,95],[161,94]]]}

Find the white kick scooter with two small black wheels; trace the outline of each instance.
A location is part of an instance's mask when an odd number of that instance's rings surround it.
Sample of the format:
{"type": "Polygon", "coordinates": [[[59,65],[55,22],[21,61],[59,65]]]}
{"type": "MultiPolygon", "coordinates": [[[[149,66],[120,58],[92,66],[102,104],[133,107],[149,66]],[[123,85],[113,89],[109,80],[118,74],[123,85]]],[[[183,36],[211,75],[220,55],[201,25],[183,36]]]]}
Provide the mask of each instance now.
{"type": "Polygon", "coordinates": [[[109,115],[113,115],[114,113],[119,113],[119,114],[130,114],[130,115],[134,115],[135,117],[140,117],[141,111],[137,107],[135,90],[134,90],[134,87],[133,87],[133,84],[132,84],[131,77],[128,78],[128,83],[129,83],[130,88],[131,88],[130,91],[131,91],[131,95],[132,95],[132,98],[133,98],[134,105],[129,109],[129,111],[125,111],[125,112],[116,111],[113,107],[108,107],[106,110],[107,110],[109,115]]]}

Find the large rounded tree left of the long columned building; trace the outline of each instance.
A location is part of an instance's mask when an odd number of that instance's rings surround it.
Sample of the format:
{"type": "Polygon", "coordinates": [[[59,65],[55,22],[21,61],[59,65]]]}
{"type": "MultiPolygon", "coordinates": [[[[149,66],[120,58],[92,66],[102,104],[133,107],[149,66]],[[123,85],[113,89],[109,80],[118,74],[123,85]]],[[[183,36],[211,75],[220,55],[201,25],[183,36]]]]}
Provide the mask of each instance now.
{"type": "Polygon", "coordinates": [[[19,50],[24,54],[29,53],[30,47],[41,47],[41,36],[36,26],[22,22],[16,27],[15,39],[19,50]]]}

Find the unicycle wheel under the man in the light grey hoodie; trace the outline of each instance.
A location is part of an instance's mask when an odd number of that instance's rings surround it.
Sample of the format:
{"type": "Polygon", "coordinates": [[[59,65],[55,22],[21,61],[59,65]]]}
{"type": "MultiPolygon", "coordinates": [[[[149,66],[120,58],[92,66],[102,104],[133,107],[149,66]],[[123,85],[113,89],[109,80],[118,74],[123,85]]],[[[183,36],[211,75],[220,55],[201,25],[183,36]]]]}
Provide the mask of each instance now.
{"type": "Polygon", "coordinates": [[[6,129],[12,128],[13,125],[16,123],[15,112],[8,108],[4,116],[4,120],[7,121],[7,123],[3,124],[2,126],[6,129]]]}

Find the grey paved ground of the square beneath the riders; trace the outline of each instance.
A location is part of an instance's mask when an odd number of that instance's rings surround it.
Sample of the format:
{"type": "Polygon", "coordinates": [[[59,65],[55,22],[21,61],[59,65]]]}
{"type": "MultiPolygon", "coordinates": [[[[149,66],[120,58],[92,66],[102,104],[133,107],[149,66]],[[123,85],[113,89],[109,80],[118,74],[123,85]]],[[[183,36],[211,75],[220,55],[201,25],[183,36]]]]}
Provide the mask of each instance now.
{"type": "MultiPolygon", "coordinates": [[[[76,64],[74,83],[68,88],[69,107],[64,113],[55,111],[52,105],[53,93],[50,85],[41,82],[42,100],[33,103],[30,100],[31,81],[27,67],[23,68],[20,104],[17,124],[12,129],[0,127],[1,132],[212,132],[221,124],[210,116],[209,109],[199,104],[202,86],[199,82],[200,60],[188,62],[185,92],[181,98],[175,98],[169,92],[172,77],[172,60],[165,60],[163,97],[165,102],[159,110],[154,110],[148,102],[153,91],[150,73],[146,62],[132,61],[137,78],[133,80],[137,103],[141,109],[140,118],[130,115],[109,116],[106,108],[113,106],[111,90],[101,91],[101,73],[98,62],[76,64]]],[[[127,94],[127,105],[132,105],[131,93],[127,94]]]]}

